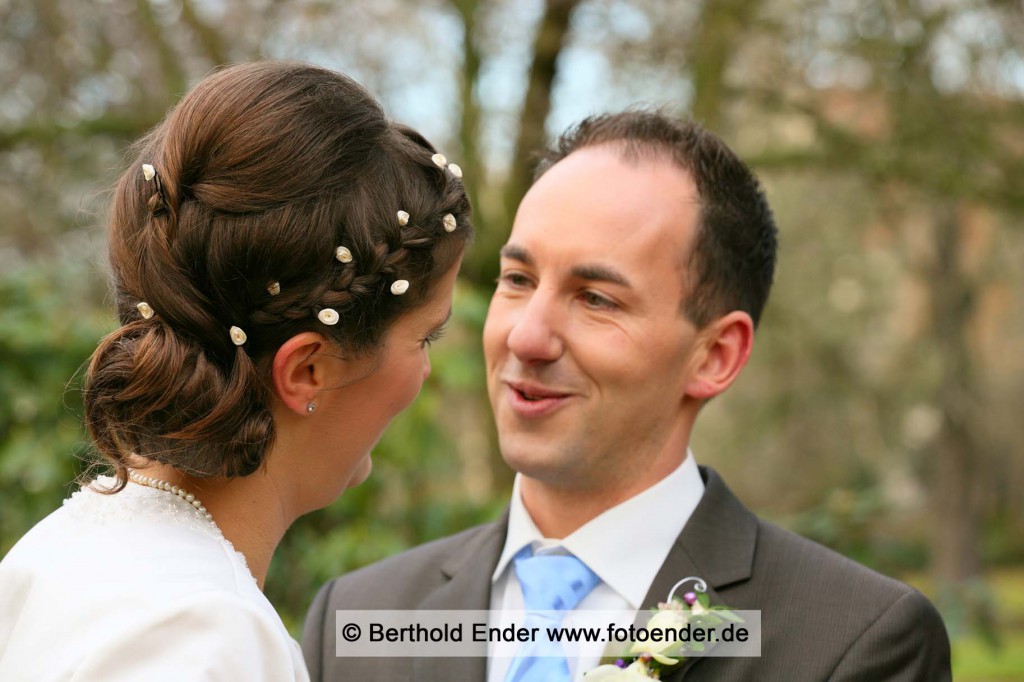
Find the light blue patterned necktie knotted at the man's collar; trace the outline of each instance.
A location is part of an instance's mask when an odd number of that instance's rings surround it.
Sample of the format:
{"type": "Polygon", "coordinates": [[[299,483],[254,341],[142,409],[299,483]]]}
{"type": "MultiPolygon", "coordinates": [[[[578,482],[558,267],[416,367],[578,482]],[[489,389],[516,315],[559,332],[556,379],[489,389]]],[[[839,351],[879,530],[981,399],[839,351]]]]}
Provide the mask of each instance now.
{"type": "Polygon", "coordinates": [[[601,579],[572,555],[531,556],[529,547],[515,559],[515,574],[522,588],[526,609],[523,624],[539,628],[538,638],[526,642],[509,666],[505,682],[568,682],[569,666],[562,645],[548,639],[547,629],[557,628],[577,604],[590,594],[601,579]],[[561,611],[542,614],[538,611],[561,611]]]}

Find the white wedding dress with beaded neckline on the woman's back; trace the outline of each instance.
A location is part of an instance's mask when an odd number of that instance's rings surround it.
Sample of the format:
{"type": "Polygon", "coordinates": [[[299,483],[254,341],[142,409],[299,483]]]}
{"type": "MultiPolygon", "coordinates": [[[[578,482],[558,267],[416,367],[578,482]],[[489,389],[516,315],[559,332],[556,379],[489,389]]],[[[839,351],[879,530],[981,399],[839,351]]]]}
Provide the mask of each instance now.
{"type": "Polygon", "coordinates": [[[79,491],[0,561],[4,682],[308,679],[245,557],[169,493],[79,491]]]}

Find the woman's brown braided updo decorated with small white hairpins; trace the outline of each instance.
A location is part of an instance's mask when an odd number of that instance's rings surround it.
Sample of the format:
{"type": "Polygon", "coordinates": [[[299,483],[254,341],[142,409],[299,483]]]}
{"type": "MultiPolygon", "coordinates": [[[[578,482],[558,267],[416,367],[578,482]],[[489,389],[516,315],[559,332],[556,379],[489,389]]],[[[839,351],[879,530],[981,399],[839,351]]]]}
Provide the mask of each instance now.
{"type": "Polygon", "coordinates": [[[471,238],[465,189],[431,144],[308,65],[213,74],[135,152],[109,223],[122,326],[93,353],[84,394],[115,492],[131,455],[194,476],[255,472],[274,438],[278,348],[314,331],[374,352],[471,238]],[[394,295],[399,279],[409,290],[394,295]],[[337,324],[321,322],[325,308],[337,324]]]}

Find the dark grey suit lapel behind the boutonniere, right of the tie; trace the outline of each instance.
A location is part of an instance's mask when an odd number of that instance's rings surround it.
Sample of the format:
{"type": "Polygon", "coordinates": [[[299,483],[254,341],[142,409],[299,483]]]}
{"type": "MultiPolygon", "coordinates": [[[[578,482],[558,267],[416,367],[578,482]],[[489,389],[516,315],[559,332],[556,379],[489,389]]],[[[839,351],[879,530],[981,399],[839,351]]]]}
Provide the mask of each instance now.
{"type": "MultiPolygon", "coordinates": [[[[757,517],[713,469],[700,467],[700,475],[705,480],[703,497],[654,577],[644,598],[643,610],[656,607],[679,581],[691,577],[707,582],[712,605],[729,606],[716,590],[751,578],[758,536],[757,517]]],[[[688,582],[676,594],[682,596],[691,591],[692,586],[693,582],[688,582]]],[[[690,658],[665,681],[682,680],[700,660],[699,657],[690,658]]]]}

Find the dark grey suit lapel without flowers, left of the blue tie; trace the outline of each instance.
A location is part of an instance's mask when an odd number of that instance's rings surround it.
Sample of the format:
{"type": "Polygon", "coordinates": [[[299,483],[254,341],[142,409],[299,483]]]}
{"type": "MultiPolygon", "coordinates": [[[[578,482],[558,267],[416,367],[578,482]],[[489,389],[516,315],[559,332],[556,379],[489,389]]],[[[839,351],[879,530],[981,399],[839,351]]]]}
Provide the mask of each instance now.
{"type": "MultiPolygon", "coordinates": [[[[421,610],[486,610],[490,608],[490,576],[505,546],[508,510],[501,519],[481,529],[441,565],[444,583],[427,594],[421,610]]],[[[413,659],[413,679],[485,680],[487,659],[430,657],[413,659]]]]}

